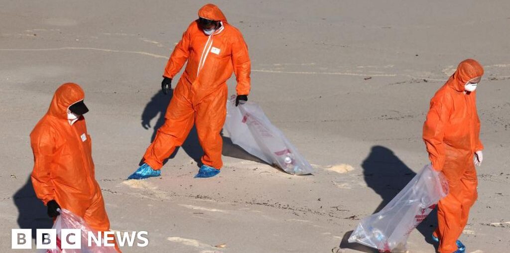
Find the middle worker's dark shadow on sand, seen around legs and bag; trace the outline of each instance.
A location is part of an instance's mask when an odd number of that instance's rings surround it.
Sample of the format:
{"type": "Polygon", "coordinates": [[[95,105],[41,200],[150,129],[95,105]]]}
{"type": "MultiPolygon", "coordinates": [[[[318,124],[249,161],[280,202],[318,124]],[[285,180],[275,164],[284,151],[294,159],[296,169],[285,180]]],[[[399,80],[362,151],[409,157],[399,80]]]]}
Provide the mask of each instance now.
{"type": "MultiPolygon", "coordinates": [[[[142,112],[141,117],[142,127],[146,130],[149,130],[151,128],[153,130],[150,142],[154,141],[154,138],[156,138],[156,134],[158,133],[158,129],[165,123],[165,113],[172,97],[173,89],[170,90],[169,93],[166,95],[163,94],[162,91],[158,91],[154,96],[152,96],[149,103],[147,103],[142,112]],[[158,118],[156,124],[154,124],[154,126],[151,126],[150,121],[155,119],[156,117],[158,118]]],[[[222,152],[223,156],[251,160],[267,164],[261,159],[250,155],[238,145],[232,143],[232,140],[230,138],[223,136],[223,131],[221,132],[221,137],[223,138],[223,152],[222,152]]],[[[191,129],[190,134],[188,135],[186,141],[183,143],[181,147],[184,149],[186,154],[188,154],[188,156],[195,160],[197,166],[201,166],[200,158],[203,155],[203,150],[202,147],[200,146],[200,143],[198,142],[198,135],[195,126],[193,126],[193,129],[191,129]]],[[[174,158],[178,150],[179,147],[175,148],[174,153],[168,159],[174,158]]],[[[168,159],[164,161],[164,164],[168,161],[168,159]]]]}

